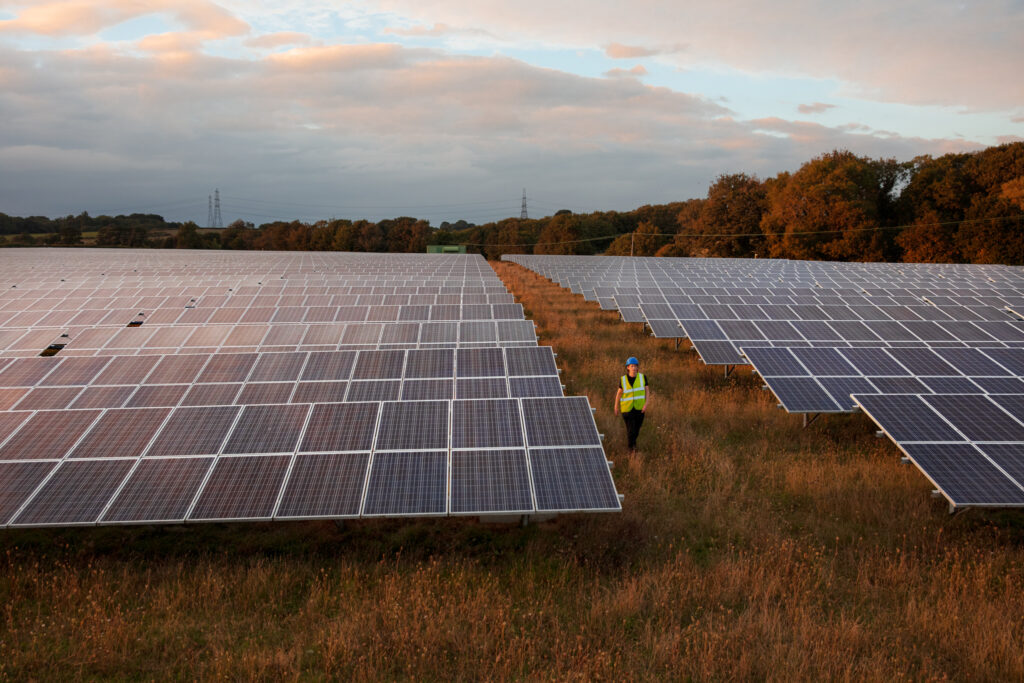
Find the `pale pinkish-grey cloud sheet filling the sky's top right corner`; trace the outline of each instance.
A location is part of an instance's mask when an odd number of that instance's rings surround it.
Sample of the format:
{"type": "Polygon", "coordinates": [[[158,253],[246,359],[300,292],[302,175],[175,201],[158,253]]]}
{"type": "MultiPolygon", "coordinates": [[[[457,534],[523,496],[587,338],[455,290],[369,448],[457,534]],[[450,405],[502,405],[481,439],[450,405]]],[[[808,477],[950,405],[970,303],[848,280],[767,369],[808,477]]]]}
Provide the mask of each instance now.
{"type": "Polygon", "coordinates": [[[514,9],[465,0],[373,4],[411,22],[473,26],[510,40],[569,48],[669,45],[685,35],[688,49],[673,57],[678,66],[828,79],[853,97],[972,111],[1016,109],[1024,101],[1018,73],[1024,12],[1015,0],[637,0],[628,6],[591,0],[586,12],[575,3],[547,0],[521,0],[514,9]],[[826,44],[818,40],[824,36],[826,44]]]}

